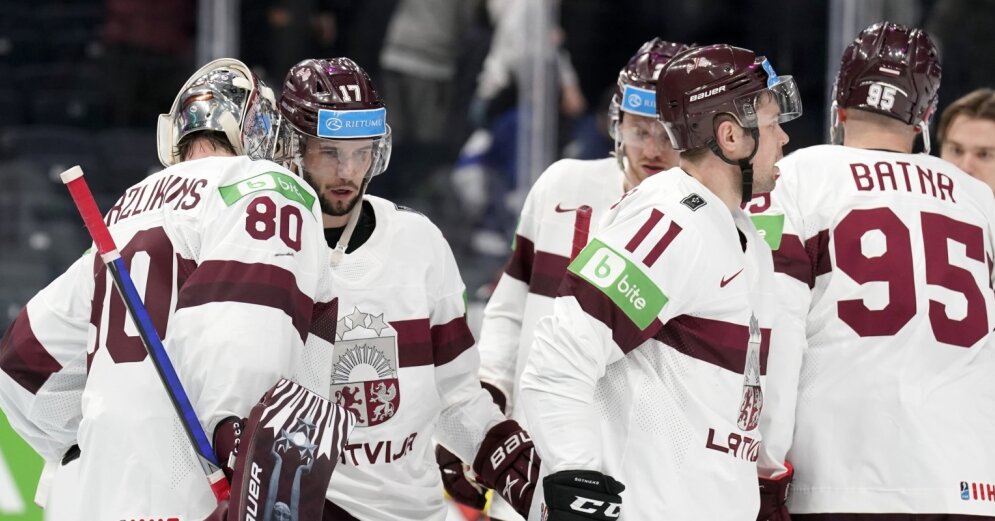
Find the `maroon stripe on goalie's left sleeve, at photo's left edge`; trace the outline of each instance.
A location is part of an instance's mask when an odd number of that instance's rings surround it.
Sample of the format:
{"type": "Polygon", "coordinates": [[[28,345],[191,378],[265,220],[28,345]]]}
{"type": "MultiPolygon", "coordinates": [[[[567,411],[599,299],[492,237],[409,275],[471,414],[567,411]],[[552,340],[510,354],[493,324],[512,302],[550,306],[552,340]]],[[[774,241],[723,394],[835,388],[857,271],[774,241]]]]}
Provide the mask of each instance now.
{"type": "Polygon", "coordinates": [[[37,394],[48,377],[62,369],[62,364],[35,336],[26,307],[21,309],[0,342],[0,369],[31,394],[37,394]]]}

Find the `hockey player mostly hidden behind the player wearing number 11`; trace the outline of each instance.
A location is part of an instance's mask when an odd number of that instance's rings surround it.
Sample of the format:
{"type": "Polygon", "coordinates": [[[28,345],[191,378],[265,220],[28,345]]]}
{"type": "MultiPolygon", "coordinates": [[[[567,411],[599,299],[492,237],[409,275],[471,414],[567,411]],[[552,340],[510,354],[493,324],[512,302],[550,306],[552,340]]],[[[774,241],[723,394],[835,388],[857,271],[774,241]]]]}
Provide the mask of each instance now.
{"type": "MultiPolygon", "coordinates": [[[[624,192],[677,165],[677,151],[657,120],[654,88],[661,68],[687,48],[659,38],[644,43],[619,72],[608,109],[615,157],[557,161],[525,199],[515,251],[484,310],[477,343],[481,381],[499,405],[508,404],[508,417],[523,425],[525,414],[517,403],[515,387],[528,359],[536,320],[552,312],[567,265],[624,192]]],[[[453,463],[442,452],[444,471],[452,470],[453,463]]],[[[461,476],[450,474],[454,479],[461,476]]],[[[447,486],[447,490],[470,506],[483,504],[483,496],[465,482],[447,486]]],[[[506,521],[519,519],[500,500],[492,502],[489,515],[506,521]]]]}

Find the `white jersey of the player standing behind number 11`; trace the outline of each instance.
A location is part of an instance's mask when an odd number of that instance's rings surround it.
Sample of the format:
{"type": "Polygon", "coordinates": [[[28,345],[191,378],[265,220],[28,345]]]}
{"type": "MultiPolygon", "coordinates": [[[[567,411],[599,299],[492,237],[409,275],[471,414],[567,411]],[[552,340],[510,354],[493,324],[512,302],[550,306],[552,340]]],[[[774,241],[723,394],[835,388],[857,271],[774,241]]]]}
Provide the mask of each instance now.
{"type": "Polygon", "coordinates": [[[615,158],[562,159],[539,176],[525,198],[515,249],[484,308],[477,342],[480,379],[504,393],[506,411],[523,427],[525,414],[516,403],[515,388],[536,321],[553,312],[567,265],[622,196],[623,182],[615,158]]]}

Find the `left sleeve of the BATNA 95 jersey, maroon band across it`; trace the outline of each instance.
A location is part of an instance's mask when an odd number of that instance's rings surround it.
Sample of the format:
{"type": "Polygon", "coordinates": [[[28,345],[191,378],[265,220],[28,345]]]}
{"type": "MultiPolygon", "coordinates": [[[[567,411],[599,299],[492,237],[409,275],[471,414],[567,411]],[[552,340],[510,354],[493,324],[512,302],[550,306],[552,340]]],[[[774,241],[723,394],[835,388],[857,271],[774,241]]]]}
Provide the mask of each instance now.
{"type": "Polygon", "coordinates": [[[810,234],[799,207],[799,176],[795,156],[778,163],[781,177],[771,192],[770,208],[764,216],[783,225],[766,230],[767,238],[779,233],[779,244],[773,253],[775,295],[780,313],[771,333],[771,348],[767,358],[767,389],[760,417],[763,450],[758,459],[762,476],[776,477],[784,471],[795,425],[795,405],[802,357],[807,349],[806,323],[812,300],[811,288],[820,259],[815,258],[812,241],[826,240],[820,234],[810,234]],[[783,216],[783,217],[782,217],[783,216]]]}

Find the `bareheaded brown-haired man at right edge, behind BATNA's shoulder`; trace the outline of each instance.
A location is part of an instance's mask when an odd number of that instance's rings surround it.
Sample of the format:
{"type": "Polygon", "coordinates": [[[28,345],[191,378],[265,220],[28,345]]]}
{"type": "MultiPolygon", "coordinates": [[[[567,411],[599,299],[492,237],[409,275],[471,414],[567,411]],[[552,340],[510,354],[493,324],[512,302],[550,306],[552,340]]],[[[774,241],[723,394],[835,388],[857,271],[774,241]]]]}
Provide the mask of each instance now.
{"type": "Polygon", "coordinates": [[[953,102],[936,133],[941,158],[995,190],[995,90],[978,89],[953,102]]]}

